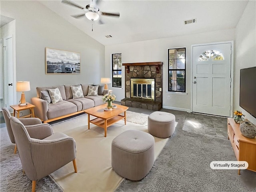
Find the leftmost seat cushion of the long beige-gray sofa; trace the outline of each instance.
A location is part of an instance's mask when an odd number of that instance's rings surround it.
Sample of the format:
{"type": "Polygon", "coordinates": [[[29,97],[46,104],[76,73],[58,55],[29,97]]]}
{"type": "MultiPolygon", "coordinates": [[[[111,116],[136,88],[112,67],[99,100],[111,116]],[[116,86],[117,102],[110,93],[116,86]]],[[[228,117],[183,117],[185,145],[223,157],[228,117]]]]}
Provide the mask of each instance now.
{"type": "Polygon", "coordinates": [[[68,101],[61,101],[56,104],[48,105],[48,119],[68,115],[76,112],[76,105],[68,101]]]}

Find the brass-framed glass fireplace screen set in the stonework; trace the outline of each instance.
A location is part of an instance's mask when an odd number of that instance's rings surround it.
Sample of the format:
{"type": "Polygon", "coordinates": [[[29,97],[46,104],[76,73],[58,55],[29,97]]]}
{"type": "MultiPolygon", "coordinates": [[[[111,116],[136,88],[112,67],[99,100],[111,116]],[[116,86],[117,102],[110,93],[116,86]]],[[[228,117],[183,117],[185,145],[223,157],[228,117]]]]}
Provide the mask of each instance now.
{"type": "Polygon", "coordinates": [[[155,80],[144,78],[131,79],[131,97],[154,101],[155,80]]]}

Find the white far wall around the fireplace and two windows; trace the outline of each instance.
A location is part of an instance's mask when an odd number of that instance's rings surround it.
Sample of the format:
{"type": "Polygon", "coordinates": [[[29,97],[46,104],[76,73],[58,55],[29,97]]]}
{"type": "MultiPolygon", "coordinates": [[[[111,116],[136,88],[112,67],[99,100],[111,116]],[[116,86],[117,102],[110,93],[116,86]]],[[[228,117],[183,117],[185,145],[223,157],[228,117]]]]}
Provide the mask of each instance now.
{"type": "MultiPolygon", "coordinates": [[[[127,44],[106,46],[106,77],[111,76],[111,54],[122,53],[122,63],[163,62],[163,108],[190,111],[191,108],[191,45],[234,40],[235,29],[212,31],[186,36],[177,36],[127,44]],[[186,92],[187,94],[171,94],[168,86],[168,48],[186,47],[186,92]],[[167,96],[170,95],[170,100],[167,96]]],[[[124,96],[124,67],[122,68],[122,88],[111,88],[117,100],[124,96]]]]}

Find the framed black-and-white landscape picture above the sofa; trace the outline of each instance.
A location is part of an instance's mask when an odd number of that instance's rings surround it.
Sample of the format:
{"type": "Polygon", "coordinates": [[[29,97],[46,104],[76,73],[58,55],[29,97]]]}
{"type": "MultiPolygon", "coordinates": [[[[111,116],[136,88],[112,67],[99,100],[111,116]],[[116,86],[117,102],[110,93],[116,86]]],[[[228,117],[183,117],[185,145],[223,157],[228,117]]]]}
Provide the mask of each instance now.
{"type": "Polygon", "coordinates": [[[45,48],[46,74],[80,74],[80,53],[45,48]]]}

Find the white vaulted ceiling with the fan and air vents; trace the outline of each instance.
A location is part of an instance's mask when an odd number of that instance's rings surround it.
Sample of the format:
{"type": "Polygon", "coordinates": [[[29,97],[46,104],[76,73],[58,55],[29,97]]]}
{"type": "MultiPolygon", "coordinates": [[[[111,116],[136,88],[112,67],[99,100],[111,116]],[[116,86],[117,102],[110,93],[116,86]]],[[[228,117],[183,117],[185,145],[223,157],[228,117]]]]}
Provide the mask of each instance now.
{"type": "MultiPolygon", "coordinates": [[[[120,17],[100,16],[105,24],[98,24],[86,17],[73,18],[70,15],[82,14],[84,10],[60,0],[40,2],[103,45],[235,28],[248,3],[247,0],[102,0],[100,11],[119,12],[120,17]],[[194,18],[195,23],[184,24],[184,20],[194,18]]],[[[90,4],[89,0],[74,2],[82,7],[90,4]]]]}

